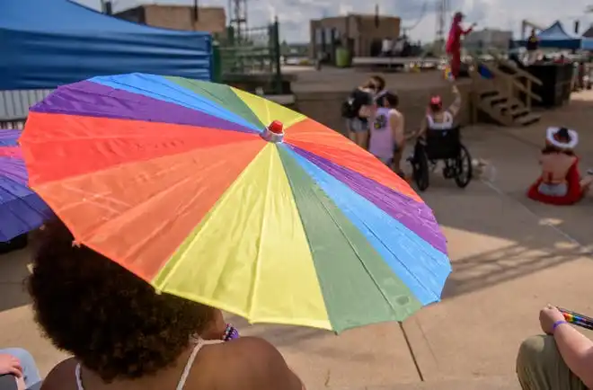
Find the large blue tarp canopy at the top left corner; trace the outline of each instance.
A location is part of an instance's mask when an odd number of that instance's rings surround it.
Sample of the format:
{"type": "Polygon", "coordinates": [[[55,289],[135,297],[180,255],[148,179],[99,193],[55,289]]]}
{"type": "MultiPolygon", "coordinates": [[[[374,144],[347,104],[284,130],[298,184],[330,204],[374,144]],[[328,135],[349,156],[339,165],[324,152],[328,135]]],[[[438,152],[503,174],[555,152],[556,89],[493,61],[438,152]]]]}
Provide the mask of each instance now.
{"type": "Polygon", "coordinates": [[[209,80],[206,32],[127,22],[68,0],[1,0],[0,90],[130,72],[209,80]]]}

